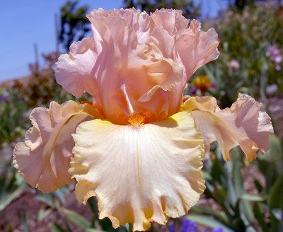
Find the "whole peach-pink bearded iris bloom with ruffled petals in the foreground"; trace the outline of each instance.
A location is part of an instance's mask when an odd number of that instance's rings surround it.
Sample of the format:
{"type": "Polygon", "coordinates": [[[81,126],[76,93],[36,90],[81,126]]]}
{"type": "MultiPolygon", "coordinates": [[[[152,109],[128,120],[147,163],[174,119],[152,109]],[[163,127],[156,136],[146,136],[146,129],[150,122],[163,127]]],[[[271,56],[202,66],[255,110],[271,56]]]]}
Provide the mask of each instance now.
{"type": "Polygon", "coordinates": [[[198,202],[213,141],[225,160],[237,145],[249,161],[269,149],[271,120],[250,96],[227,109],[210,96],[183,98],[190,76],[218,58],[214,29],[172,9],[99,9],[87,18],[93,36],[73,43],[54,70],[67,92],[87,92],[93,103],[32,111],[33,127],[14,149],[32,187],[49,193],[76,180],[76,198],[97,198],[100,219],[144,231],[198,202]]]}

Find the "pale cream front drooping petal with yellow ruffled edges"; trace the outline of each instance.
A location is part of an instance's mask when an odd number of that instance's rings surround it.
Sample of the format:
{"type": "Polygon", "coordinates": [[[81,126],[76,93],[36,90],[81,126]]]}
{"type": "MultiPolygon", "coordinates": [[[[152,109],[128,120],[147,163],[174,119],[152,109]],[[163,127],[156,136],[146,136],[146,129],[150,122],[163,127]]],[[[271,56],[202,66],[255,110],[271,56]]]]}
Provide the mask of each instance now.
{"type": "Polygon", "coordinates": [[[135,116],[132,125],[81,123],[69,172],[78,181],[80,202],[98,199],[100,219],[110,218],[114,228],[130,222],[134,231],[144,231],[150,222],[165,224],[198,202],[205,189],[204,145],[188,112],[152,124],[135,116]]]}

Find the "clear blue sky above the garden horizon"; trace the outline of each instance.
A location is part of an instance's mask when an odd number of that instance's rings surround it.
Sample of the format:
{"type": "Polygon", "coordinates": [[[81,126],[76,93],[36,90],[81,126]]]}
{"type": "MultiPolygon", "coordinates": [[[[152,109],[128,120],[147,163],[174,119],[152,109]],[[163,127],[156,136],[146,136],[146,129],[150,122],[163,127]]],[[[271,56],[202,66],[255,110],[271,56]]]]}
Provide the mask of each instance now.
{"type": "MultiPolygon", "coordinates": [[[[199,2],[201,0],[196,0],[199,2]]],[[[120,8],[122,0],[80,0],[91,9],[120,8]]],[[[203,15],[215,16],[225,7],[223,0],[203,0],[203,15]]],[[[34,43],[38,52],[55,50],[54,14],[65,0],[0,1],[0,81],[29,74],[28,63],[34,62],[34,43]]],[[[40,57],[41,59],[41,57],[40,57]]],[[[42,61],[42,59],[41,59],[42,61]]]]}

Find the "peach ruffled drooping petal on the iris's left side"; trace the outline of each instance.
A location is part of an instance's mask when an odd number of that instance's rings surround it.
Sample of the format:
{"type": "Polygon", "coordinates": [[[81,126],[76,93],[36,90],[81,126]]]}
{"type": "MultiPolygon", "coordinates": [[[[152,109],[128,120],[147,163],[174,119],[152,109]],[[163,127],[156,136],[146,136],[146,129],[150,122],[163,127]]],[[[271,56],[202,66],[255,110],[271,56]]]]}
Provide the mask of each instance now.
{"type": "Polygon", "coordinates": [[[25,134],[25,141],[14,148],[14,167],[32,187],[44,193],[69,184],[74,146],[71,134],[82,121],[99,117],[91,105],[74,101],[63,105],[52,102],[49,109],[34,109],[30,114],[33,127],[25,134]]]}

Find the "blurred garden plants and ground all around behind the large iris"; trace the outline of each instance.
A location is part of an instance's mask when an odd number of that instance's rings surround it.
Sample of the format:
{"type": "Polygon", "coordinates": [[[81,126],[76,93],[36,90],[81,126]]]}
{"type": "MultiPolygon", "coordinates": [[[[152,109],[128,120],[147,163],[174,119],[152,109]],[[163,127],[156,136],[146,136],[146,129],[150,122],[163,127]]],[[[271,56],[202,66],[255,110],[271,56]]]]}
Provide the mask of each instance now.
{"type": "MultiPolygon", "coordinates": [[[[224,162],[213,144],[204,159],[207,188],[199,204],[185,217],[170,219],[166,226],[154,224],[150,231],[283,231],[283,8],[279,1],[229,2],[219,17],[205,19],[201,1],[124,1],[125,7],[147,12],[178,8],[185,17],[201,17],[205,28],[214,27],[220,56],[192,76],[185,93],[215,96],[222,108],[230,107],[238,92],[247,93],[263,103],[276,132],[269,151],[251,164],[238,148],[231,151],[231,162],[224,162]]],[[[65,50],[89,33],[84,17],[89,10],[78,1],[62,6],[57,36],[65,50]]],[[[30,76],[0,84],[0,231],[131,231],[131,225],[115,230],[108,218],[99,220],[94,198],[86,207],[76,202],[73,184],[43,194],[25,184],[12,165],[12,149],[30,127],[31,110],[74,100],[54,78],[52,65],[59,54],[44,54],[44,66],[30,65],[30,76]]]]}

